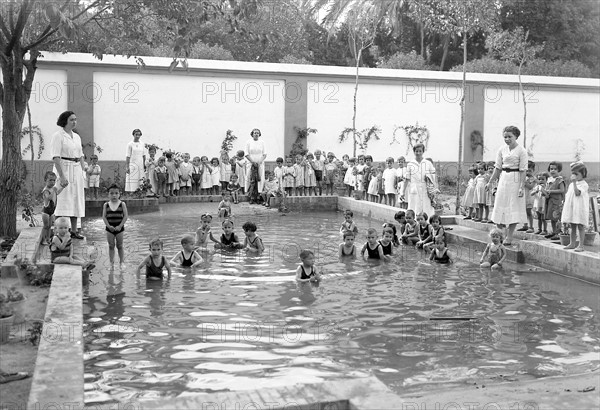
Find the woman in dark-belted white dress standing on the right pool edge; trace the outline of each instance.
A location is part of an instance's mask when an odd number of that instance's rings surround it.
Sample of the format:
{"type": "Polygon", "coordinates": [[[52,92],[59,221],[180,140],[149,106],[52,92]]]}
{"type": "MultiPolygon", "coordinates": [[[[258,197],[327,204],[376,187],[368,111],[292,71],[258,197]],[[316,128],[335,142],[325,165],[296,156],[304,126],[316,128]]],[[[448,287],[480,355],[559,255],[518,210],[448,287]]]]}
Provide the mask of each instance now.
{"type": "Polygon", "coordinates": [[[525,213],[524,183],[527,171],[527,151],[517,143],[521,131],[512,125],[504,128],[505,146],[498,150],[494,173],[485,185],[490,190],[500,177],[491,219],[500,229],[508,226],[505,246],[512,245],[513,233],[518,223],[527,221],[525,213]]]}

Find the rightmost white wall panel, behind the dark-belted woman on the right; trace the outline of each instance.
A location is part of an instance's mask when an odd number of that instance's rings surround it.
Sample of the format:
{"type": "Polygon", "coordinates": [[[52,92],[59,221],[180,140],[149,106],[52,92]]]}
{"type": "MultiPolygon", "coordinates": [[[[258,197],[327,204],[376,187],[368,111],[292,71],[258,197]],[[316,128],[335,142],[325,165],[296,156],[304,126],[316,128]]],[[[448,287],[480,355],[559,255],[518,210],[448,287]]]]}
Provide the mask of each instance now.
{"type": "MultiPolygon", "coordinates": [[[[600,128],[600,95],[595,92],[558,88],[539,88],[528,92],[527,147],[535,161],[573,162],[578,138],[584,141],[584,162],[598,162],[600,128]],[[533,145],[532,145],[533,143],[533,145]]],[[[502,130],[516,125],[521,130],[523,144],[523,102],[513,88],[502,87],[501,93],[486,101],[484,136],[488,149],[485,160],[495,160],[498,148],[504,145],[502,130]]]]}

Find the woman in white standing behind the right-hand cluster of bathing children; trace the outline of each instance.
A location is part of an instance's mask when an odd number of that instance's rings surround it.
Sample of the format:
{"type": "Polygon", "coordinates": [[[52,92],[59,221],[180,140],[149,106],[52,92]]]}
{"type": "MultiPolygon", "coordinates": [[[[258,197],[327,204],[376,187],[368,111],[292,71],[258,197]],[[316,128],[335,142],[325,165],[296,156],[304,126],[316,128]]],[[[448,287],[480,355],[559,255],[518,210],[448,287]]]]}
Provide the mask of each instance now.
{"type": "Polygon", "coordinates": [[[413,147],[413,153],[415,159],[406,165],[404,171],[404,182],[400,188],[400,192],[402,192],[400,202],[407,202],[408,209],[415,211],[415,214],[425,212],[429,217],[435,213],[435,210],[431,205],[429,195],[427,195],[426,178],[436,184],[435,167],[431,161],[423,158],[425,145],[416,144],[413,147]]]}

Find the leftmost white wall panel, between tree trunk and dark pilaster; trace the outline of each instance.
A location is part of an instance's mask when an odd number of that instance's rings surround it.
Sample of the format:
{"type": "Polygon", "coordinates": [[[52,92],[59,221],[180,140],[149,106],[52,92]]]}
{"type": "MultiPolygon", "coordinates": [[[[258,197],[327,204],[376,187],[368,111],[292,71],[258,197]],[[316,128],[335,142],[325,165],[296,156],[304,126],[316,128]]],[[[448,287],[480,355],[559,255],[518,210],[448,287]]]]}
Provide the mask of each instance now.
{"type": "MultiPolygon", "coordinates": [[[[64,70],[38,69],[32,84],[29,108],[31,110],[31,124],[40,127],[44,139],[44,151],[41,159],[50,160],[50,140],[52,134],[59,130],[56,120],[60,113],[67,110],[67,72],[64,70]]],[[[2,108],[0,108],[0,115],[2,108]]],[[[23,127],[28,127],[27,114],[23,120],[23,127]]],[[[0,128],[2,124],[0,123],[0,128]]],[[[29,136],[21,140],[21,149],[29,145],[29,136]]],[[[39,140],[34,139],[35,159],[39,152],[39,140]]],[[[0,144],[0,158],[2,156],[2,144],[0,144]]],[[[27,151],[24,159],[31,158],[31,151],[27,151]]]]}

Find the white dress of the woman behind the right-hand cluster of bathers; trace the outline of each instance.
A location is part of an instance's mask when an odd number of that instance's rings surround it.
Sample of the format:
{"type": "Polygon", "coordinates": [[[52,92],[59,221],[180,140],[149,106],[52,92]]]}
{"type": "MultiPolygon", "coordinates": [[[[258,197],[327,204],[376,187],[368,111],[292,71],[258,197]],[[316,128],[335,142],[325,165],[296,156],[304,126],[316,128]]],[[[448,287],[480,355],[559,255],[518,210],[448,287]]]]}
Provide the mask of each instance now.
{"type": "Polygon", "coordinates": [[[431,200],[427,195],[427,183],[425,182],[426,176],[435,182],[435,168],[433,164],[426,159],[422,159],[420,163],[416,160],[410,161],[406,166],[404,175],[409,180],[408,188],[406,189],[408,209],[415,211],[415,214],[425,212],[428,216],[433,215],[435,210],[431,206],[431,200]]]}

